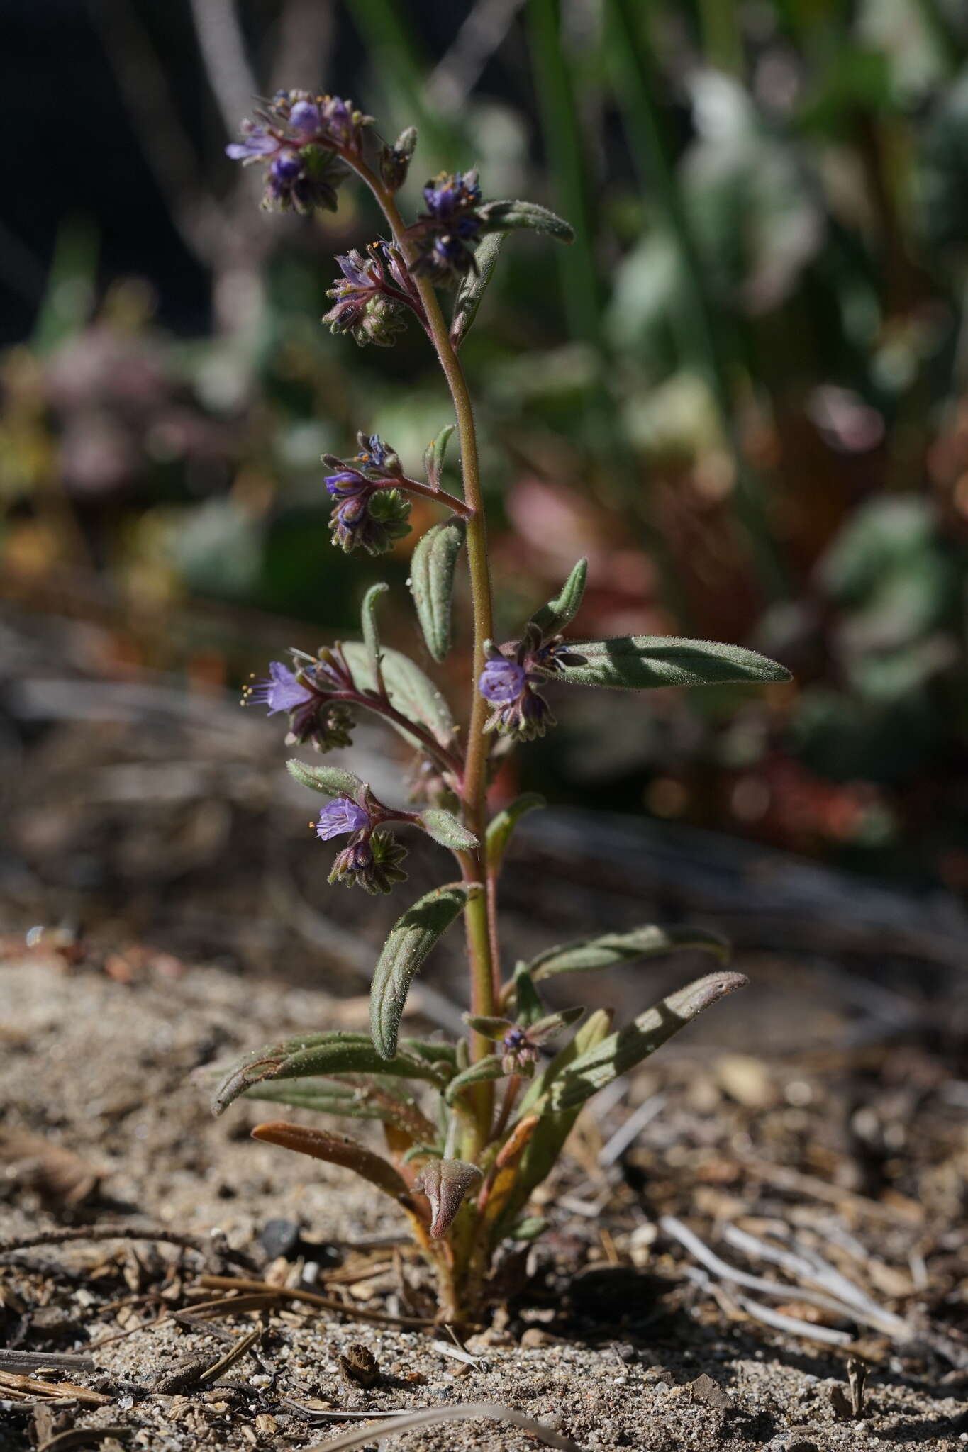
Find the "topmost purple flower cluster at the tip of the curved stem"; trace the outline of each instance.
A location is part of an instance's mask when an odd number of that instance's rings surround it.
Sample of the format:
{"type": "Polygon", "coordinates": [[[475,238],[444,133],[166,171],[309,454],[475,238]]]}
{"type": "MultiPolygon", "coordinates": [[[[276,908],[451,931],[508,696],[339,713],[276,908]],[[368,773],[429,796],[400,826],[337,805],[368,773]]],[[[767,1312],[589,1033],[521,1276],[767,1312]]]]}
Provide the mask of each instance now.
{"type": "Polygon", "coordinates": [[[337,187],[350,174],[340,158],[358,155],[370,119],[337,96],[277,91],[225,151],[232,161],[268,163],[264,208],[335,212],[337,187]]]}

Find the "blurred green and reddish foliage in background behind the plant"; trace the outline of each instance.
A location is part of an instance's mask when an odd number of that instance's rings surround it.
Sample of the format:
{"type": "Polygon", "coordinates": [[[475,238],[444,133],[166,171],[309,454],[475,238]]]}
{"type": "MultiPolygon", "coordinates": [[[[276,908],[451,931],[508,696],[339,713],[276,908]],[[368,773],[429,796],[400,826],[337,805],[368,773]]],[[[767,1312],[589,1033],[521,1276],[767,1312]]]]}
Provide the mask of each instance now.
{"type": "MultiPolygon", "coordinates": [[[[238,9],[264,55],[286,6],[238,9]]],[[[968,887],[965,7],[335,13],[319,76],[286,80],[353,94],[386,135],[418,123],[411,208],[425,174],[477,163],[485,195],[576,227],[557,273],[505,250],[464,348],[502,626],[581,552],[583,629],[742,639],[797,677],[755,704],[620,703],[608,739],[569,700],[533,784],[968,887]]],[[[351,629],[319,454],[363,427],[417,469],[444,399],[415,331],[357,351],[318,324],[331,256],[376,227],[364,199],[267,229],[223,139],[196,138],[242,241],[208,258],[208,335],[167,335],[144,285],[99,293],[97,238],[65,224],[3,363],[7,571],[39,598],[93,569],[135,617],[190,595],[351,629]]],[[[258,664],[219,640],[229,675],[258,664]]]]}

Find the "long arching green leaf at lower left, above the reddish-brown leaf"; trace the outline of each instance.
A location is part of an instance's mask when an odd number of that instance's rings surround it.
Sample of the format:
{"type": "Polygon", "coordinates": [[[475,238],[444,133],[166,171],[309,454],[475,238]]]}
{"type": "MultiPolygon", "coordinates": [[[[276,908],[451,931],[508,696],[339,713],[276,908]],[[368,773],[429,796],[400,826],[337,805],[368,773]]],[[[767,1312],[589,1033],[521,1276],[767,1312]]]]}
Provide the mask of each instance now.
{"type": "Polygon", "coordinates": [[[216,1089],[212,1112],[222,1114],[247,1089],[266,1080],[367,1073],[427,1079],[430,1083],[441,1083],[446,1077],[430,1060],[417,1054],[393,1054],[389,1059],[377,1054],[367,1034],[305,1034],[247,1054],[216,1089]]]}

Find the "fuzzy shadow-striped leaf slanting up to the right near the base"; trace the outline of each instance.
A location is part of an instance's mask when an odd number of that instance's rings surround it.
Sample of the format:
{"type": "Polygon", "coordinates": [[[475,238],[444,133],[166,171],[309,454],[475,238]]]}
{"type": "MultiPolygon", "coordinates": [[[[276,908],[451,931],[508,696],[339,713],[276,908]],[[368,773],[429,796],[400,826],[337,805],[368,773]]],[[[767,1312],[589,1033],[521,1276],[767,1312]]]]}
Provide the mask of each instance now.
{"type": "Polygon", "coordinates": [[[551,1085],[551,1108],[581,1108],[612,1079],[628,1073],[643,1059],[655,1054],[656,1048],[691,1024],[704,1008],[742,989],[747,982],[742,973],[710,973],[670,993],[625,1028],[610,1034],[595,1048],[581,1054],[551,1085]]]}

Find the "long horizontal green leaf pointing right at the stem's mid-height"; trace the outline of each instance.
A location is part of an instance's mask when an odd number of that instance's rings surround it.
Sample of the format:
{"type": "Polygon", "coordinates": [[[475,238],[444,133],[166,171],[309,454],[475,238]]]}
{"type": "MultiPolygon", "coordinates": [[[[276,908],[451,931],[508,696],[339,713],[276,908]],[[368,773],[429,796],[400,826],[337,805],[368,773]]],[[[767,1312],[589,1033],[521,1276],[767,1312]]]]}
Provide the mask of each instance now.
{"type": "Polygon", "coordinates": [[[681,636],[618,636],[614,640],[569,640],[583,665],[569,665],[556,681],[644,691],[657,685],[723,685],[788,681],[789,671],[756,650],[718,640],[681,636]]]}

